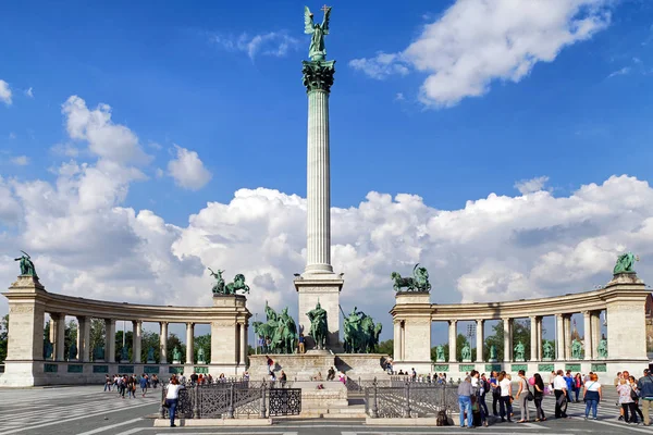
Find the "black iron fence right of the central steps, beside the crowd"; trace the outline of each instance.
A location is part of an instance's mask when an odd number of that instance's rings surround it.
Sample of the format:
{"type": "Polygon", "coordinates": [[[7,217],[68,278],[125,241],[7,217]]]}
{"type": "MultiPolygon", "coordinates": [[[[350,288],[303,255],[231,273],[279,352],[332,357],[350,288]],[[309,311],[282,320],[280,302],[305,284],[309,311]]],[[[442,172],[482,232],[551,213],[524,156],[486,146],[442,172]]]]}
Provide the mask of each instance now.
{"type": "Polygon", "coordinates": [[[365,387],[365,411],[371,418],[438,417],[458,409],[457,384],[428,384],[391,380],[393,385],[380,386],[374,380],[365,387]]]}

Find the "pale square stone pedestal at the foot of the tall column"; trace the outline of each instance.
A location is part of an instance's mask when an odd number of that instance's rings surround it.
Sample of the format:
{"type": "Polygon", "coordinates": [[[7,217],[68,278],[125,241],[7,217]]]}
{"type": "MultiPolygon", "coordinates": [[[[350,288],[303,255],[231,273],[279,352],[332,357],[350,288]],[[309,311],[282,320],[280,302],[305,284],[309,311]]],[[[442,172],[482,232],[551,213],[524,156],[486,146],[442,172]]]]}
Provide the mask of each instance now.
{"type": "Polygon", "coordinates": [[[297,327],[304,333],[307,349],[310,349],[315,341],[310,334],[310,320],[307,313],[316,308],[318,301],[326,310],[326,323],[329,327],[329,337],[326,347],[338,351],[340,344],[340,293],[344,281],[335,274],[307,274],[294,281],[295,289],[298,293],[299,324],[297,327]]]}

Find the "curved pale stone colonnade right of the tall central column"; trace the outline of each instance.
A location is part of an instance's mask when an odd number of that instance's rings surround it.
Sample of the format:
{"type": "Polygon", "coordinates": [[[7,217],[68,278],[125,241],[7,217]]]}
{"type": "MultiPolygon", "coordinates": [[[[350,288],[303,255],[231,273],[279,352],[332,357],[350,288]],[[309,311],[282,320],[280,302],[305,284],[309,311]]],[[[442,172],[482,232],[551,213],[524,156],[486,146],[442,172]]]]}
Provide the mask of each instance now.
{"type": "Polygon", "coordinates": [[[391,311],[394,324],[393,369],[406,371],[415,368],[418,373],[424,374],[445,372],[449,377],[460,377],[471,370],[550,373],[563,369],[581,373],[593,371],[599,375],[607,372],[611,376],[624,370],[641,373],[649,364],[644,306],[650,294],[634,273],[616,274],[599,290],[506,302],[438,304],[430,302],[428,293],[397,293],[391,311]],[[607,355],[599,349],[602,341],[600,313],[603,310],[609,322],[605,337],[607,355]],[[583,314],[582,345],[586,349],[581,358],[572,352],[570,321],[571,314],[579,312],[583,314]],[[547,315],[554,315],[556,321],[556,353],[553,358],[545,358],[542,349],[542,318],[547,315]],[[513,321],[522,318],[530,320],[530,355],[517,360],[514,356],[513,321]],[[476,341],[484,344],[484,322],[491,320],[503,321],[504,355],[496,356],[496,361],[486,361],[483,346],[477,345],[476,361],[458,361],[457,323],[476,322],[476,341]],[[431,322],[448,323],[447,361],[431,361],[431,322]]]}

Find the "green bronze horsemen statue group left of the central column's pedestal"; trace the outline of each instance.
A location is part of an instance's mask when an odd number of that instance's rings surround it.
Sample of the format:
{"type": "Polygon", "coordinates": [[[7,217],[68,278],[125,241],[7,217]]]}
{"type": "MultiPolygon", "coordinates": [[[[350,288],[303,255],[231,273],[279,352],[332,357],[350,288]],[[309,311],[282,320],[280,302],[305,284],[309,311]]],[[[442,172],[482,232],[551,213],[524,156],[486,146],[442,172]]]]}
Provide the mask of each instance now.
{"type": "Polygon", "coordinates": [[[270,339],[269,353],[293,353],[299,338],[297,324],[288,314],[287,307],[278,314],[266,301],[266,323],[252,322],[256,335],[267,343],[270,339]]]}

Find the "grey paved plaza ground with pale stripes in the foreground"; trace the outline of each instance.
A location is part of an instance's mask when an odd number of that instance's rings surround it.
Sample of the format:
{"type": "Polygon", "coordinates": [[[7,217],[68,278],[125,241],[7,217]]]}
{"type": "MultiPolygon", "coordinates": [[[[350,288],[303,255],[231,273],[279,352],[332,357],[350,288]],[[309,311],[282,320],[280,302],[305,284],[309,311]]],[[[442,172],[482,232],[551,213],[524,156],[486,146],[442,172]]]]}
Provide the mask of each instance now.
{"type": "MultiPolygon", "coordinates": [[[[477,427],[484,434],[636,434],[651,433],[653,427],[627,425],[617,421],[616,394],[607,388],[599,409],[597,421],[582,419],[584,405],[570,403],[566,420],[551,419],[539,423],[497,423],[477,427]]],[[[102,393],[101,387],[60,387],[0,389],[0,435],[4,434],[459,434],[470,432],[453,427],[372,427],[362,420],[285,420],[270,427],[153,427],[152,414],[159,409],[160,389],[150,396],[120,399],[118,393],[102,393]]],[[[554,414],[554,400],[544,400],[547,417],[554,414]]],[[[515,410],[517,419],[518,408],[515,410]]],[[[533,415],[531,415],[531,419],[533,415]]]]}

